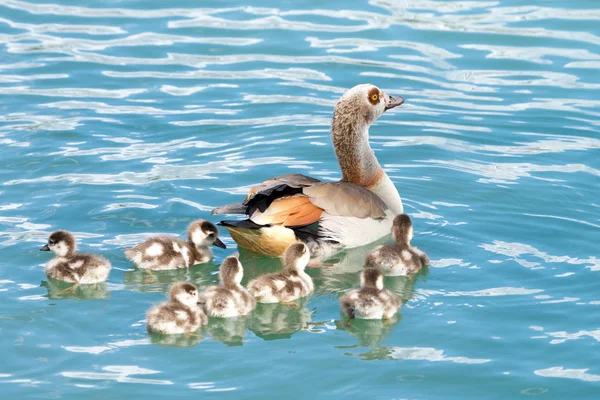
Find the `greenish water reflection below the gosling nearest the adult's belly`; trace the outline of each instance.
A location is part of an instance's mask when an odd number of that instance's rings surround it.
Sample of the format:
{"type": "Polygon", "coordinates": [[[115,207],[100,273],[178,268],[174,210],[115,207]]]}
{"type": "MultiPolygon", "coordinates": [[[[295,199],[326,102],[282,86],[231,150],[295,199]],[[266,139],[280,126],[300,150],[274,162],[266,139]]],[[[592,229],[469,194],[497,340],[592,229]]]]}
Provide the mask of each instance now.
{"type": "Polygon", "coordinates": [[[252,313],[248,328],[264,340],[289,339],[306,328],[311,312],[306,308],[307,298],[288,304],[258,304],[252,313]]]}

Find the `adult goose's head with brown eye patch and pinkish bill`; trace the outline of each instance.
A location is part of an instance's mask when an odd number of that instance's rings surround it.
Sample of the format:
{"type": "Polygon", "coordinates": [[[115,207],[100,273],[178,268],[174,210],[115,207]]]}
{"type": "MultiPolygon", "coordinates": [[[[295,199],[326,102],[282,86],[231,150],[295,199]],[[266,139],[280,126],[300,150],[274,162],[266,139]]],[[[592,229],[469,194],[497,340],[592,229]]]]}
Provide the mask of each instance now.
{"type": "Polygon", "coordinates": [[[404,103],[400,96],[389,96],[375,85],[356,85],[340,97],[334,110],[335,119],[346,119],[369,126],[387,110],[404,103]]]}

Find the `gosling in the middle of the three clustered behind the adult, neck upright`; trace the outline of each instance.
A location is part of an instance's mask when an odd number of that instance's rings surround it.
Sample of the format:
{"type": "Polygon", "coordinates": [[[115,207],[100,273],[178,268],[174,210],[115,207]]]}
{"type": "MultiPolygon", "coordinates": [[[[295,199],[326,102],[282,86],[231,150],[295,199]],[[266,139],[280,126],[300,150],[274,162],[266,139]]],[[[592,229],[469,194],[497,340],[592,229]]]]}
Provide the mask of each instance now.
{"type": "Polygon", "coordinates": [[[236,256],[229,256],[219,268],[220,286],[210,286],[200,294],[199,304],[211,317],[228,318],[246,315],[256,307],[256,300],[241,285],[244,268],[236,256]]]}

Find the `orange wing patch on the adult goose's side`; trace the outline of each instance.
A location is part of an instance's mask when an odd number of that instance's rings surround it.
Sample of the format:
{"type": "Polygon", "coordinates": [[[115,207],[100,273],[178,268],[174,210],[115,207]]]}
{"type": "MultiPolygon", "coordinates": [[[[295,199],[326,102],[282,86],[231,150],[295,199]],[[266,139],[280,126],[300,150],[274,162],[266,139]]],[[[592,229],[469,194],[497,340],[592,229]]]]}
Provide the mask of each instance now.
{"type": "Polygon", "coordinates": [[[250,220],[259,225],[300,226],[317,222],[322,213],[308,197],[298,195],[273,201],[264,212],[254,211],[250,220]]]}

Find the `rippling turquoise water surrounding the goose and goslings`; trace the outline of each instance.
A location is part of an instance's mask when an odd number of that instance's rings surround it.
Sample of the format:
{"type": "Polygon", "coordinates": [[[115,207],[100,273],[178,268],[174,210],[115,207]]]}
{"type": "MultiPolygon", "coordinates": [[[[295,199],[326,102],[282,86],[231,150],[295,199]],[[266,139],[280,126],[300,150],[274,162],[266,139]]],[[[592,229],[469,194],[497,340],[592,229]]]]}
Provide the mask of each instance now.
{"type": "MultiPolygon", "coordinates": [[[[0,2],[0,397],[600,396],[596,1],[191,3],[0,2]],[[340,319],[351,252],[297,309],[149,337],[169,284],[236,247],[154,280],[123,248],[274,175],[340,178],[332,107],[363,82],[406,99],[371,143],[433,264],[386,278],[398,320],[340,319]],[[106,285],[47,281],[56,229],[106,285]]],[[[241,256],[246,281],[280,268],[241,256]]]]}

